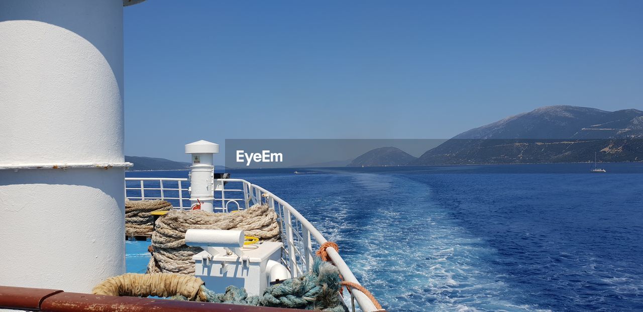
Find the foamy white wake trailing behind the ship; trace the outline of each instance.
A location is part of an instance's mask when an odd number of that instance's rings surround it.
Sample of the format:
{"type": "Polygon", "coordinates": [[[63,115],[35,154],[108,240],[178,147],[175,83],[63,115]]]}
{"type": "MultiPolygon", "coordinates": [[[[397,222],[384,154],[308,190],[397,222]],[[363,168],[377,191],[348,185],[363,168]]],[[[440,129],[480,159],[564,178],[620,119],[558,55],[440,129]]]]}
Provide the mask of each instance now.
{"type": "Polygon", "coordinates": [[[305,216],[392,311],[537,311],[512,302],[489,264],[495,250],[455,225],[426,186],[359,173],[325,181],[341,189],[317,184],[305,216]]]}

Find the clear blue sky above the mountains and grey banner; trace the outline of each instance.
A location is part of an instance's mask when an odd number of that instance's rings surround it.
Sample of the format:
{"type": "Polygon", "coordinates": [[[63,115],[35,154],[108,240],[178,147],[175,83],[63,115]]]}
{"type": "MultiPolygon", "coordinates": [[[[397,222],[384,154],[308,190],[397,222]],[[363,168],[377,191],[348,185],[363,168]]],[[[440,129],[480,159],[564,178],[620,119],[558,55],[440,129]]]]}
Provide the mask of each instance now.
{"type": "Polygon", "coordinates": [[[125,8],[125,153],[449,138],[545,105],[643,107],[643,1],[169,1],[125,8]]]}

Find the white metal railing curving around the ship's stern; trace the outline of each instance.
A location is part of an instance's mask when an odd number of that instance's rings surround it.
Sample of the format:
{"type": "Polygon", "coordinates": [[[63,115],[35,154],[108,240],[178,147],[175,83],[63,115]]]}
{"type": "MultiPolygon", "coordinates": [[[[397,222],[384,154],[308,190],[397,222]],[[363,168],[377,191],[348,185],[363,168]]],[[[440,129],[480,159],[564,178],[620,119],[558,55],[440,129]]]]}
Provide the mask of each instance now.
{"type": "MultiPolygon", "coordinates": [[[[188,192],[189,184],[190,182],[187,178],[125,178],[125,195],[129,199],[167,200],[176,209],[190,209],[190,196],[188,193],[183,193],[184,191],[188,192]],[[183,204],[185,200],[188,200],[187,205],[183,204]]],[[[231,211],[230,204],[234,204],[233,209],[248,209],[252,204],[267,204],[275,209],[279,216],[281,236],[284,243],[282,263],[293,277],[303,275],[312,270],[314,250],[326,243],[327,239],[290,204],[263,187],[237,178],[215,179],[214,197],[215,211],[217,212],[231,211]],[[240,185],[241,187],[226,189],[226,183],[240,185]],[[235,194],[241,192],[240,197],[242,198],[239,198],[239,196],[226,198],[226,193],[230,192],[235,194]]],[[[326,248],[326,252],[340,270],[344,281],[359,284],[349,266],[341,259],[336,250],[326,248]]],[[[359,290],[352,289],[350,290],[349,305],[352,306],[353,311],[356,309],[356,302],[363,311],[377,311],[377,308],[368,299],[367,295],[359,290]]]]}

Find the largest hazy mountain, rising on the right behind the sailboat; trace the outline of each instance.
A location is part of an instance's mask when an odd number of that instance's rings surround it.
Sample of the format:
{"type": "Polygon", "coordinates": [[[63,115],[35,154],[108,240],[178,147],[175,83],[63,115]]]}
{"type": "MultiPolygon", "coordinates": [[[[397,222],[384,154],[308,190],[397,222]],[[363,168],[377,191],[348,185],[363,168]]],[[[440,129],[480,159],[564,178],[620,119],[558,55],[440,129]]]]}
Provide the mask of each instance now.
{"type": "Polygon", "coordinates": [[[541,107],[458,134],[415,164],[643,160],[643,111],[541,107]]]}

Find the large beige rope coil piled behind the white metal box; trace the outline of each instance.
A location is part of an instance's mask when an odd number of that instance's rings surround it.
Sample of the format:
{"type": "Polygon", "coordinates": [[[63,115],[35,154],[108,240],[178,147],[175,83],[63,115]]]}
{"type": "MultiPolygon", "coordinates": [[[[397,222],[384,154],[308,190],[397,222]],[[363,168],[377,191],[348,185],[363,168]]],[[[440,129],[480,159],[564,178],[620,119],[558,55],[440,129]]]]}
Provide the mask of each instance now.
{"type": "Polygon", "coordinates": [[[260,241],[281,240],[277,214],[268,205],[257,204],[235,213],[174,210],[156,220],[147,273],[194,275],[192,256],[203,249],[185,245],[188,229],[244,230],[260,241]]]}

